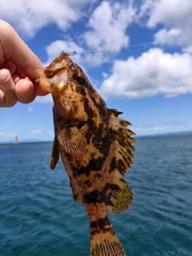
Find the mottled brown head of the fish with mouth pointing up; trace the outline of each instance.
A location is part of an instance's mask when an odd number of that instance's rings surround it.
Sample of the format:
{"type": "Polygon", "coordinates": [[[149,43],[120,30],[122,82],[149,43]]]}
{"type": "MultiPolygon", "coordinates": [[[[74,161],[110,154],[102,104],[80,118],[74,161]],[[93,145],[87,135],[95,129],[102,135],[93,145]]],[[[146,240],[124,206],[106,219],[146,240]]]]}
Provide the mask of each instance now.
{"type": "Polygon", "coordinates": [[[102,108],[102,116],[108,113],[101,96],[66,51],[55,58],[35,82],[52,94],[54,108],[61,117],[84,122],[91,118],[95,121],[101,115],[98,106],[102,108]]]}

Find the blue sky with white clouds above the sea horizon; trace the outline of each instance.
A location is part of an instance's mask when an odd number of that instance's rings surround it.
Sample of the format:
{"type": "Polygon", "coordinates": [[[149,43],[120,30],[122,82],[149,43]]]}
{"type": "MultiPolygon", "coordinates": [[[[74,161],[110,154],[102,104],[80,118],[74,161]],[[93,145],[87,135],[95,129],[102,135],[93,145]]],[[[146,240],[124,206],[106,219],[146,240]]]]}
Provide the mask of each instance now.
{"type": "MultiPolygon", "coordinates": [[[[138,136],[192,130],[191,0],[0,0],[45,66],[62,50],[138,136]]],[[[0,109],[0,142],[54,139],[52,98],[0,109]]]]}

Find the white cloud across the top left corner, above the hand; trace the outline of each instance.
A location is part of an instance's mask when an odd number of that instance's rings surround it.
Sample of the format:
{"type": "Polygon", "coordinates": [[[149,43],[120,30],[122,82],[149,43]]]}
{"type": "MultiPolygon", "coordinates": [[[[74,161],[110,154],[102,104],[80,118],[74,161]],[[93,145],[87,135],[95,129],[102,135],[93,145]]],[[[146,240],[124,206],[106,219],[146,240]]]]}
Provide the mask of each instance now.
{"type": "Polygon", "coordinates": [[[10,0],[9,3],[0,0],[1,18],[23,35],[33,37],[43,26],[53,23],[65,31],[82,17],[86,4],[90,5],[88,0],[10,0]]]}

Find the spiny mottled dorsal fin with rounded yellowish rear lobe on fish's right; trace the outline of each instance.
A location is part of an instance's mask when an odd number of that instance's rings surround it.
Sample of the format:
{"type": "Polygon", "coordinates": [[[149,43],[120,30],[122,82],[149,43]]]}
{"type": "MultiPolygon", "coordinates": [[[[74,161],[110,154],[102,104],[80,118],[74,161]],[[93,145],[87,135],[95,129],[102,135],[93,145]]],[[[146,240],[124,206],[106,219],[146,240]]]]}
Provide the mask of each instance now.
{"type": "Polygon", "coordinates": [[[127,129],[130,126],[130,122],[122,118],[118,118],[117,110],[110,111],[110,129],[114,134],[114,142],[111,150],[114,152],[114,158],[110,164],[110,173],[114,176],[113,184],[114,189],[110,193],[110,205],[108,209],[111,214],[122,214],[129,208],[134,200],[134,192],[130,189],[127,183],[123,180],[126,171],[130,164],[133,164],[131,158],[134,155],[131,153],[135,151],[134,147],[131,146],[132,143],[136,142],[131,135],[135,135],[133,131],[127,129]]]}

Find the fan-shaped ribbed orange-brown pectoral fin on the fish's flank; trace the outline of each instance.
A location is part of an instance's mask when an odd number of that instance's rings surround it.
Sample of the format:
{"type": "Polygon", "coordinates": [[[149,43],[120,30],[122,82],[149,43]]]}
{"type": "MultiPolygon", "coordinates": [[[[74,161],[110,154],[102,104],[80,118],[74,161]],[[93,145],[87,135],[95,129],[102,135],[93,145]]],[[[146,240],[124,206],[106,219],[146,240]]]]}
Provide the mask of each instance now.
{"type": "Polygon", "coordinates": [[[76,127],[70,128],[70,132],[67,134],[63,130],[59,130],[58,142],[63,150],[83,163],[87,143],[85,136],[76,127]]]}

